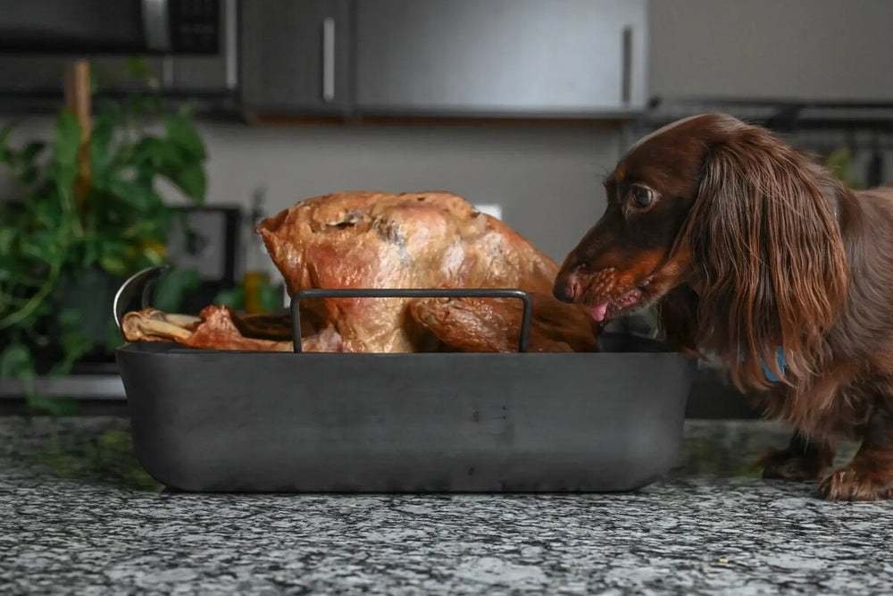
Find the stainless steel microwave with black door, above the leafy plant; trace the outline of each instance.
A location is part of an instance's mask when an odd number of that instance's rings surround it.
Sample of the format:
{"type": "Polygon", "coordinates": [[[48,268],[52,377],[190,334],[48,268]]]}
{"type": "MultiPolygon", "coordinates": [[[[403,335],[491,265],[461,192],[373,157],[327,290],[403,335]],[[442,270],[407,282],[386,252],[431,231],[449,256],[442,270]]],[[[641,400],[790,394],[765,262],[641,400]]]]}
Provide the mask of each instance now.
{"type": "Polygon", "coordinates": [[[66,66],[80,58],[104,92],[140,88],[128,75],[133,56],[163,95],[230,101],[237,19],[238,0],[0,0],[0,107],[56,105],[66,66]]]}

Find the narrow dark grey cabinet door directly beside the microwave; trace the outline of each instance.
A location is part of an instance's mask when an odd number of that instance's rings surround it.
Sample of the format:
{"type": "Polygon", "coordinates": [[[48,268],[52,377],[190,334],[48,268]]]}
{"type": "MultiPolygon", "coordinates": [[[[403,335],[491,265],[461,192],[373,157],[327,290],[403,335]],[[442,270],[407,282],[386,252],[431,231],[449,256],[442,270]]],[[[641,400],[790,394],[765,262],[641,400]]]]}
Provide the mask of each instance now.
{"type": "Polygon", "coordinates": [[[251,0],[240,6],[247,109],[337,113],[346,108],[349,0],[251,0]]]}

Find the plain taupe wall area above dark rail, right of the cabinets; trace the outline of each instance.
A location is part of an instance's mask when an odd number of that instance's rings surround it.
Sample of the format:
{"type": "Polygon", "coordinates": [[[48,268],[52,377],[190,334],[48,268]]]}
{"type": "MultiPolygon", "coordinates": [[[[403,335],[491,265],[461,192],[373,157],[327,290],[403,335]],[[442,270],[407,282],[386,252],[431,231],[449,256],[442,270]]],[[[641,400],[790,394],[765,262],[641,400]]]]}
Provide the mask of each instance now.
{"type": "Polygon", "coordinates": [[[658,96],[893,98],[889,0],[673,0],[651,3],[649,17],[658,96]]]}

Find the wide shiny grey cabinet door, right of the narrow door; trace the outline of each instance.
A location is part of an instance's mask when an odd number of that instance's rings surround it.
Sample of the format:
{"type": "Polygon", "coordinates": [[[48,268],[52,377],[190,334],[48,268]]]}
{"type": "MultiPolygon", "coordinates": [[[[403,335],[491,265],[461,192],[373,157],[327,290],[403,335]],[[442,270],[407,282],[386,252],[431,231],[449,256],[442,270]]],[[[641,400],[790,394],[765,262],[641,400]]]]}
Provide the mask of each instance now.
{"type": "Polygon", "coordinates": [[[356,0],[356,105],[496,115],[639,109],[646,12],[646,0],[356,0]]]}

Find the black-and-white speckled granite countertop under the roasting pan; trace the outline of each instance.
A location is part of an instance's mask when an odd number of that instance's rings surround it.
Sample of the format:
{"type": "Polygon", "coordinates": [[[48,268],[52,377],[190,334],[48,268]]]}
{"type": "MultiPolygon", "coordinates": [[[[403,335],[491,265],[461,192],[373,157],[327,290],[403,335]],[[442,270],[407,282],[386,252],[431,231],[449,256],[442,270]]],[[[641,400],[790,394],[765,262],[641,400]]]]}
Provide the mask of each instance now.
{"type": "Polygon", "coordinates": [[[689,422],[630,494],[196,495],[146,476],[126,420],[5,417],[0,592],[889,593],[893,503],[764,482],[786,441],[689,422]]]}

